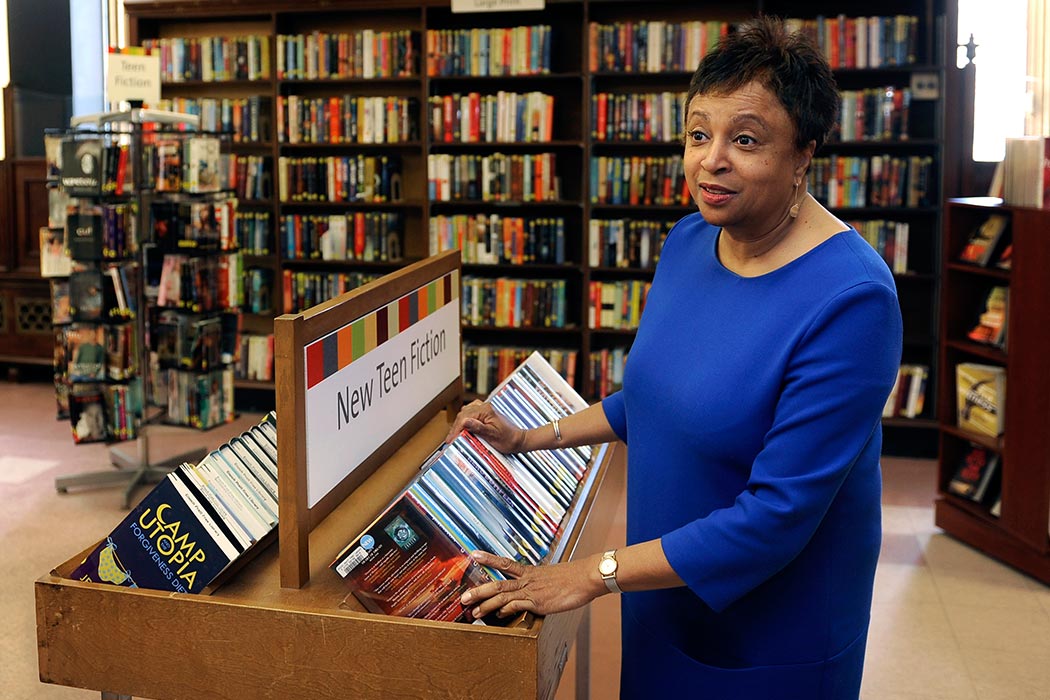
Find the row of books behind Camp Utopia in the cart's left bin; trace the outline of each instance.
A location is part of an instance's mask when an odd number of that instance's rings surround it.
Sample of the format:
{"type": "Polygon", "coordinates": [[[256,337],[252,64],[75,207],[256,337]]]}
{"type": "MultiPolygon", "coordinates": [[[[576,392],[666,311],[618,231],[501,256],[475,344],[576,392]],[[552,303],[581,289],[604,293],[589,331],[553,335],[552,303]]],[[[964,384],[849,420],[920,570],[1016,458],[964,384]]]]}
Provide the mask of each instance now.
{"type": "Polygon", "coordinates": [[[274,539],[277,419],[262,421],[198,464],[182,464],[100,542],[76,580],[201,593],[234,561],[274,539]]]}

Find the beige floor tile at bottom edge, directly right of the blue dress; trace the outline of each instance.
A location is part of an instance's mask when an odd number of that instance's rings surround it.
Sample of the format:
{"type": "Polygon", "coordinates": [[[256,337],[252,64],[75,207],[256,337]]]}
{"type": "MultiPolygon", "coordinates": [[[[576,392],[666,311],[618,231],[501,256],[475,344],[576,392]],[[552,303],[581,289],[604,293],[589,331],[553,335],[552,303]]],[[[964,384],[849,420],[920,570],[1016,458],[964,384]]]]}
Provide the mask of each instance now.
{"type": "Polygon", "coordinates": [[[868,643],[863,696],[882,700],[909,693],[920,698],[978,700],[963,655],[954,645],[931,646],[905,635],[868,643]]]}

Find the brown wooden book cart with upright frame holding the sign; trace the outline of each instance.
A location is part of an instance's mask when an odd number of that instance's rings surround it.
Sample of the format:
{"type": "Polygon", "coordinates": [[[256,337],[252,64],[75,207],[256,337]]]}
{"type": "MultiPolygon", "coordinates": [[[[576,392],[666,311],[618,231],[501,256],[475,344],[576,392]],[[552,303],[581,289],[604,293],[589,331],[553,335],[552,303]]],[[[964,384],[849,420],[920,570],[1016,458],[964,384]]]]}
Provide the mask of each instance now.
{"type": "MultiPolygon", "coordinates": [[[[278,363],[290,364],[280,347],[297,348],[301,357],[306,343],[331,327],[458,267],[458,253],[436,256],[322,304],[331,326],[311,323],[310,317],[320,313],[316,310],[282,317],[290,323],[301,317],[300,330],[316,333],[300,335],[294,347],[278,341],[278,363]]],[[[442,440],[461,386],[455,382],[452,391],[406,417],[411,429],[376,450],[390,453],[365,465],[372,473],[362,480],[355,476],[360,469],[352,472],[330,492],[338,499],[326,496],[304,509],[290,505],[304,504],[306,496],[298,490],[302,465],[289,462],[302,449],[304,413],[290,405],[294,387],[278,378],[278,422],[295,428],[284,427],[279,445],[279,549],[264,549],[201,595],[69,579],[86,552],[60,564],[36,581],[41,680],[100,691],[104,697],[156,700],[552,698],[578,631],[583,625],[586,632],[584,610],[526,617],[507,628],[387,617],[364,612],[328,569],[442,440]],[[354,481],[359,483],[348,486],[354,481]]],[[[595,450],[566,516],[562,560],[604,545],[624,487],[624,455],[622,445],[595,450]]],[[[586,667],[586,659],[581,663],[586,667]]]]}

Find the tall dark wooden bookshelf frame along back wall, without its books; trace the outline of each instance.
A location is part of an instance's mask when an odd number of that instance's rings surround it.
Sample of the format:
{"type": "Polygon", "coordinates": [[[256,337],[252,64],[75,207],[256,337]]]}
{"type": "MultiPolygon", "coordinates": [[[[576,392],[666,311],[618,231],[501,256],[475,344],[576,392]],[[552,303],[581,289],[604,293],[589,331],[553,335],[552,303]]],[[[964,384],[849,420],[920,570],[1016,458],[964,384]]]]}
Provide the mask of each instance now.
{"type": "MultiPolygon", "coordinates": [[[[663,201],[632,205],[629,201],[603,200],[595,192],[595,164],[598,158],[672,158],[680,155],[679,134],[672,137],[655,134],[643,137],[611,134],[598,137],[597,119],[593,104],[600,96],[633,96],[684,93],[688,88],[693,66],[674,65],[658,70],[627,70],[610,66],[602,60],[593,61],[596,54],[595,33],[592,25],[624,26],[632,22],[659,21],[668,25],[687,21],[735,24],[760,12],[784,18],[823,21],[822,34],[835,34],[835,22],[856,22],[855,13],[848,13],[840,2],[806,0],[788,3],[782,0],[751,0],[722,3],[718,6],[682,7],[671,0],[657,0],[643,5],[622,0],[550,0],[542,12],[500,12],[454,14],[447,0],[421,0],[419,2],[379,2],[378,0],[301,2],[272,1],[246,5],[240,2],[216,1],[195,3],[186,1],[127,0],[128,41],[140,44],[155,38],[200,38],[209,36],[260,35],[270,41],[271,69],[269,76],[256,80],[236,81],[181,81],[166,84],[165,97],[255,97],[268,118],[266,133],[238,148],[244,153],[261,156],[270,164],[272,175],[271,195],[267,198],[242,204],[243,210],[256,209],[269,215],[273,246],[266,255],[246,258],[246,267],[269,270],[273,277],[274,304],[272,313],[246,314],[248,333],[270,333],[274,315],[298,311],[282,307],[279,289],[286,274],[355,273],[375,275],[388,272],[405,262],[425,256],[430,249],[430,221],[440,216],[499,216],[519,217],[526,221],[537,218],[559,218],[564,224],[563,258],[558,261],[501,261],[480,264],[465,260],[464,278],[513,278],[525,283],[538,280],[559,280],[564,284],[563,318],[551,325],[531,324],[508,326],[504,323],[472,324],[464,327],[466,345],[521,345],[538,348],[572,348],[578,352],[574,384],[580,393],[598,398],[601,386],[592,376],[592,354],[615,348],[628,348],[634,331],[630,322],[616,326],[589,323],[588,312],[595,284],[620,285],[617,293],[640,293],[652,279],[652,263],[640,266],[637,261],[610,264],[600,260],[592,263],[589,254],[590,228],[594,221],[623,220],[653,221],[666,226],[680,218],[694,208],[680,201],[663,201]],[[846,12],[849,17],[840,15],[846,12]],[[827,21],[825,21],[827,20],[827,21]],[[834,21],[834,22],[832,22],[834,21]],[[430,75],[428,59],[435,51],[427,48],[429,33],[449,34],[463,30],[461,36],[477,38],[482,29],[491,27],[550,27],[549,65],[526,75],[430,75]],[[290,79],[278,73],[276,66],[279,37],[315,31],[354,33],[407,31],[414,51],[415,69],[406,75],[371,79],[290,79]],[[472,33],[472,34],[471,34],[472,33]],[[490,143],[448,143],[436,139],[429,124],[429,104],[434,98],[477,92],[495,94],[501,90],[518,93],[532,91],[552,96],[553,129],[549,142],[534,143],[522,140],[490,143]],[[288,144],[281,143],[276,133],[278,99],[288,96],[393,96],[412,99],[416,135],[397,143],[383,144],[288,144]],[[647,140],[648,139],[648,140],[647,140]],[[427,164],[434,156],[491,156],[502,153],[510,158],[538,157],[551,153],[559,191],[545,201],[514,197],[505,201],[477,201],[474,197],[441,200],[428,191],[427,164]],[[351,205],[280,201],[277,164],[286,157],[313,157],[328,155],[378,155],[396,157],[401,163],[402,197],[399,201],[354,203],[351,205]],[[399,260],[318,260],[298,259],[287,254],[279,231],[281,217],[290,215],[329,215],[341,212],[391,212],[400,214],[403,226],[403,257],[399,260]],[[624,289],[627,292],[624,292],[624,289]]],[[[903,363],[929,367],[929,388],[925,406],[915,418],[888,418],[886,445],[888,451],[932,454],[936,450],[937,415],[936,381],[938,375],[937,298],[940,274],[940,232],[942,222],[941,201],[950,191],[947,185],[949,144],[944,135],[946,80],[945,36],[952,36],[953,13],[943,0],[892,0],[880,6],[878,14],[885,18],[907,16],[915,18],[907,31],[912,35],[912,50],[894,62],[884,61],[877,66],[856,68],[846,62],[836,68],[836,78],[843,90],[891,88],[902,93],[911,89],[907,110],[906,136],[894,131],[878,137],[858,135],[848,140],[828,143],[823,156],[852,156],[870,163],[876,157],[925,157],[930,162],[925,185],[926,196],[919,205],[874,205],[865,203],[842,206],[835,213],[847,221],[888,220],[906,224],[909,229],[907,263],[895,275],[904,316],[903,363]],[[947,19],[946,19],[947,18],[947,19]],[[922,88],[926,87],[924,91],[922,88]]],[[[872,9],[874,14],[876,10],[872,9]]],[[[896,30],[896,29],[895,29],[896,30]]],[[[466,39],[462,41],[467,41],[466,39]]],[[[837,42],[842,49],[846,41],[837,42]]],[[[540,44],[542,46],[542,44],[540,44]]],[[[441,56],[447,56],[448,44],[442,45],[441,56]]],[[[831,51],[831,44],[827,44],[831,51]]],[[[540,49],[542,51],[542,48],[540,49]]],[[[838,50],[838,49],[836,49],[838,50]]],[[[469,57],[467,57],[469,58],[469,57]]],[[[477,58],[477,57],[475,57],[477,58]]],[[[953,52],[952,52],[953,61],[953,52]]],[[[477,71],[476,71],[477,72],[477,71]]],[[[655,242],[653,243],[655,249],[655,242]]],[[[651,258],[655,257],[655,250],[651,258]]],[[[240,385],[269,386],[268,384],[240,385]]],[[[612,387],[614,388],[614,387],[612,387]]]]}

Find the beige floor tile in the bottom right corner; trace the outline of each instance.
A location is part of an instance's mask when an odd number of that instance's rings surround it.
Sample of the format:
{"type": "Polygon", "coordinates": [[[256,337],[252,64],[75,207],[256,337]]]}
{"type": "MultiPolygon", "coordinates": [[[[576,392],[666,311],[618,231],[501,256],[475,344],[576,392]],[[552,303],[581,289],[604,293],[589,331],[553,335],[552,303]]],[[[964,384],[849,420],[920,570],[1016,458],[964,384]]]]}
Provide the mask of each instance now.
{"type": "Polygon", "coordinates": [[[963,658],[980,700],[1050,698],[1050,653],[964,649],[963,658]]]}

